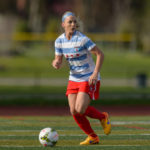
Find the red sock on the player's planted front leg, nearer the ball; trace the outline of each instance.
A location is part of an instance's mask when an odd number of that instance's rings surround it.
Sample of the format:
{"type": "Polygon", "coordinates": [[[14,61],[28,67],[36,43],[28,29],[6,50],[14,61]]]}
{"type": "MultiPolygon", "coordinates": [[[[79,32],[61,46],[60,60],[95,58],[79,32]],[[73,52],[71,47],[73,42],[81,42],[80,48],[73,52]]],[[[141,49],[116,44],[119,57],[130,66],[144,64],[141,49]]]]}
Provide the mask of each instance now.
{"type": "Polygon", "coordinates": [[[87,120],[85,115],[75,114],[73,115],[74,120],[78,124],[78,126],[87,134],[92,137],[97,137],[94,133],[93,129],[91,128],[90,122],[87,120]]]}

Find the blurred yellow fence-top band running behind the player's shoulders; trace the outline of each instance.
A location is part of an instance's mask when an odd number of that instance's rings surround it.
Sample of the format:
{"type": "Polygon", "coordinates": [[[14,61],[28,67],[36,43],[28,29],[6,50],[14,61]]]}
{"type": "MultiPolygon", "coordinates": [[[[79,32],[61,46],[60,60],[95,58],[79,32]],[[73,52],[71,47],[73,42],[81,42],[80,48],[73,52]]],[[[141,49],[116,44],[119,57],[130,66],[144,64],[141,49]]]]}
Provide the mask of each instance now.
{"type": "MultiPolygon", "coordinates": [[[[92,40],[99,42],[135,42],[133,34],[115,34],[115,33],[86,33],[92,40]]],[[[14,41],[54,41],[57,33],[13,33],[0,34],[0,40],[14,41]]]]}

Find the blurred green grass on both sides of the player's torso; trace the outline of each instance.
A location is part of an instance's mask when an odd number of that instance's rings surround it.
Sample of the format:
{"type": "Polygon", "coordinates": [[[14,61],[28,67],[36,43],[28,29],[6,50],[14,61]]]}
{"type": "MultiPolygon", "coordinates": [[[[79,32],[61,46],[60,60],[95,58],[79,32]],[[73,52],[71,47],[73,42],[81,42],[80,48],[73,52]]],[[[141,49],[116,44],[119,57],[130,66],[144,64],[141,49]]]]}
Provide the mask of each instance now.
{"type": "MultiPolygon", "coordinates": [[[[105,54],[101,70],[103,78],[134,78],[141,72],[150,77],[149,56],[115,48],[102,50],[105,54]]],[[[53,44],[40,43],[21,47],[18,51],[23,51],[21,56],[0,56],[0,77],[68,77],[69,70],[66,61],[60,70],[55,70],[51,66],[54,58],[53,44]]]]}

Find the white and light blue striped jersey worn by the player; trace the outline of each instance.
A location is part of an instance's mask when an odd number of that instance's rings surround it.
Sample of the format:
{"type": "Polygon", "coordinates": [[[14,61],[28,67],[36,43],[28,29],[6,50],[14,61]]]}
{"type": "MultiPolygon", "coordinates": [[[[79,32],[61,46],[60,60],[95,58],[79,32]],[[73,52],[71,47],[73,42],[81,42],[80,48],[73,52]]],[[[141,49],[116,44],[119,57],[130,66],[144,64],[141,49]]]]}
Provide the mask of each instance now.
{"type": "MultiPolygon", "coordinates": [[[[66,38],[65,33],[56,39],[55,55],[64,55],[69,62],[69,80],[75,82],[88,81],[95,68],[90,53],[93,47],[95,47],[95,43],[79,31],[75,31],[70,40],[66,38]]],[[[100,75],[98,80],[100,80],[100,75]]]]}

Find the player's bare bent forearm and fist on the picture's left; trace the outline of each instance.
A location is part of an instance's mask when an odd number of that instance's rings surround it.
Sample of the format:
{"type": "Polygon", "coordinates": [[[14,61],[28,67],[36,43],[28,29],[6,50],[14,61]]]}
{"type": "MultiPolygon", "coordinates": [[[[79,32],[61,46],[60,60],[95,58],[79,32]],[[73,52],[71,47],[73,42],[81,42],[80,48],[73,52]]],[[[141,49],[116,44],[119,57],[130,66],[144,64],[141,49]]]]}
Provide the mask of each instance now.
{"type": "Polygon", "coordinates": [[[52,66],[55,69],[59,69],[61,67],[61,64],[62,64],[62,59],[63,59],[63,55],[55,55],[55,59],[52,62],[52,66]]]}

